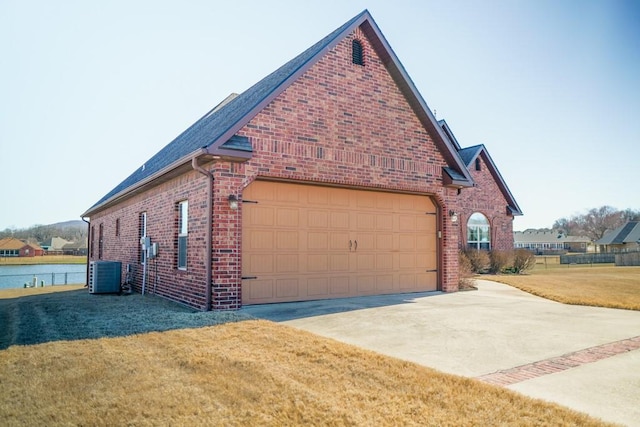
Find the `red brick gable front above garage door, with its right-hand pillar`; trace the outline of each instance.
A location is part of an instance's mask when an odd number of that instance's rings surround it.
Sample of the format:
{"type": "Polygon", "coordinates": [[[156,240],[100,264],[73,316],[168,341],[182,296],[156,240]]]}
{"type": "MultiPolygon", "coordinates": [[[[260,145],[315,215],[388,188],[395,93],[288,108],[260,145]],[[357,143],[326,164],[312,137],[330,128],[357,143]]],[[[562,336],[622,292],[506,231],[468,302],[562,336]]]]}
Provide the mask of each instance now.
{"type": "MultiPolygon", "coordinates": [[[[254,157],[240,165],[245,178],[279,178],[434,196],[447,211],[455,190],[442,186],[446,162],[381,60],[359,31],[346,37],[272,101],[239,134],[254,157]],[[365,65],[351,63],[353,38],[365,65]]],[[[458,234],[442,238],[442,289],[457,290],[458,234]]]]}

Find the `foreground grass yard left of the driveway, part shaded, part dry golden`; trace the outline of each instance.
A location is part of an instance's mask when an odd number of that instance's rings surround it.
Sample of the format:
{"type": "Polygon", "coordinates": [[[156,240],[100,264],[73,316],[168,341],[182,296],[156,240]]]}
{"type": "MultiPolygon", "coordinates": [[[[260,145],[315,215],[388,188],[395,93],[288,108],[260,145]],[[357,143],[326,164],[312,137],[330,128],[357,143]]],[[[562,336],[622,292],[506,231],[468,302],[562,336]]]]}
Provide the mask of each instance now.
{"type": "Polygon", "coordinates": [[[242,312],[69,289],[0,291],[0,425],[607,425],[242,312]]]}

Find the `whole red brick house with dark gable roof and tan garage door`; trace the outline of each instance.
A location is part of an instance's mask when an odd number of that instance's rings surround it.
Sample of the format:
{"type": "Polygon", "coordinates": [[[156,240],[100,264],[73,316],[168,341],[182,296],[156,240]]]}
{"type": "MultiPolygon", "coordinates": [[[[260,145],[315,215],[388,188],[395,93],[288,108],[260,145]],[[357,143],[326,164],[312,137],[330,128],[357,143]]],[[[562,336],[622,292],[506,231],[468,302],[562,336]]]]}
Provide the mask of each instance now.
{"type": "Polygon", "coordinates": [[[364,11],[89,208],[89,260],[202,310],[454,292],[465,218],[506,248],[520,214],[486,150],[476,172],[456,144],[364,11]]]}

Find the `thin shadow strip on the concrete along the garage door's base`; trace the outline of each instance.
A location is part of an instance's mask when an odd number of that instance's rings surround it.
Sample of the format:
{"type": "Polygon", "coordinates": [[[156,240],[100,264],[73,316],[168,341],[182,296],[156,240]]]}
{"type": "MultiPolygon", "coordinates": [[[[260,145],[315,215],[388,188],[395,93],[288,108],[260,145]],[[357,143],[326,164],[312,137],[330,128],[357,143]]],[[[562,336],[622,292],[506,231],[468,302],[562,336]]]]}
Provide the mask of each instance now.
{"type": "Polygon", "coordinates": [[[367,308],[385,307],[399,304],[412,304],[416,298],[441,295],[440,291],[414,292],[409,294],[372,295],[303,302],[284,302],[276,304],[250,305],[240,312],[259,319],[273,322],[322,316],[325,314],[344,313],[367,308]]]}

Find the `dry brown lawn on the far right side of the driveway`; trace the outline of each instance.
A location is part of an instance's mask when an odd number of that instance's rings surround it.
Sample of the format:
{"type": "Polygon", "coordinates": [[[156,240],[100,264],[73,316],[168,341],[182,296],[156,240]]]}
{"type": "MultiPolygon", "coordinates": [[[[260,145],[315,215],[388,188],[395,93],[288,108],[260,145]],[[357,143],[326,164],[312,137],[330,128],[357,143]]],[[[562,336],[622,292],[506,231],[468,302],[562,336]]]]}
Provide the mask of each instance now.
{"type": "Polygon", "coordinates": [[[483,275],[565,304],[640,310],[640,267],[536,265],[522,275],[483,275]]]}

